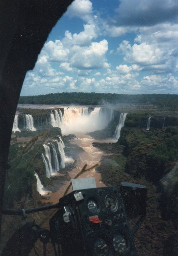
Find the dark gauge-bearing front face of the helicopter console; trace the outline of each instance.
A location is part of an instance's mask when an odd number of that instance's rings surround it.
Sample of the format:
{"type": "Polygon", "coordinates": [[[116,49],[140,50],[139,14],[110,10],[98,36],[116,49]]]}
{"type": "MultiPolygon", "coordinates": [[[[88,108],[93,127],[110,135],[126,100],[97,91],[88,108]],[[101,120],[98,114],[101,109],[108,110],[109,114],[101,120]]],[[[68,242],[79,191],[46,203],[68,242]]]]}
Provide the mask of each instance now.
{"type": "MultiPolygon", "coordinates": [[[[117,192],[111,193],[110,191],[100,195],[101,197],[98,197],[98,194],[96,194],[96,196],[89,196],[87,198],[87,215],[90,218],[96,217],[96,222],[92,222],[91,225],[92,228],[98,229],[98,237],[94,240],[94,256],[127,255],[129,242],[123,231],[123,226],[126,224],[127,218],[123,203],[120,200],[120,195],[117,192]],[[100,236],[100,228],[111,230],[109,239],[100,236]]],[[[93,219],[95,220],[95,218],[93,219]]]]}

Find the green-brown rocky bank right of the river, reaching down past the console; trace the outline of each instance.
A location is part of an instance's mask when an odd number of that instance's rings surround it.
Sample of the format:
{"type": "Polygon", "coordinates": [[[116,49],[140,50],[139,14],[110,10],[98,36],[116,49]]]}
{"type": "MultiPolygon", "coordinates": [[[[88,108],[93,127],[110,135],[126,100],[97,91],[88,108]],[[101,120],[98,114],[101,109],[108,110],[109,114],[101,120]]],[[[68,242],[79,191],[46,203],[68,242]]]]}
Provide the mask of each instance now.
{"type": "Polygon", "coordinates": [[[111,151],[110,156],[103,156],[97,170],[106,185],[126,181],[147,186],[147,216],[135,236],[135,246],[138,255],[160,256],[165,240],[176,233],[178,227],[178,127],[146,130],[139,128],[147,120],[145,114],[140,118],[127,115],[127,127],[121,129],[119,141],[104,144],[105,150],[111,145],[117,149],[122,145],[123,152],[113,154],[111,151]],[[130,120],[132,122],[128,122],[130,120]]]}

